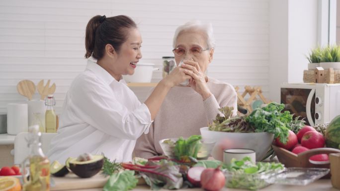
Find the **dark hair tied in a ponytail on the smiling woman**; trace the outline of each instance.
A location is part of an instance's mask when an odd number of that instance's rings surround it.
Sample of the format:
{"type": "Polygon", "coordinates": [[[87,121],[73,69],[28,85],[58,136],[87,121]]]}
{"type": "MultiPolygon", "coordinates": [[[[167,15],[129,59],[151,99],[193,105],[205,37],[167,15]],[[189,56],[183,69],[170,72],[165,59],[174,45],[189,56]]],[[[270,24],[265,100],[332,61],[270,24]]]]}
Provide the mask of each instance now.
{"type": "Polygon", "coordinates": [[[106,18],[96,15],[92,17],[86,26],[85,33],[85,58],[93,57],[100,60],[104,56],[107,44],[113,46],[119,52],[120,46],[126,41],[126,29],[137,28],[136,23],[128,16],[118,15],[106,18]]]}

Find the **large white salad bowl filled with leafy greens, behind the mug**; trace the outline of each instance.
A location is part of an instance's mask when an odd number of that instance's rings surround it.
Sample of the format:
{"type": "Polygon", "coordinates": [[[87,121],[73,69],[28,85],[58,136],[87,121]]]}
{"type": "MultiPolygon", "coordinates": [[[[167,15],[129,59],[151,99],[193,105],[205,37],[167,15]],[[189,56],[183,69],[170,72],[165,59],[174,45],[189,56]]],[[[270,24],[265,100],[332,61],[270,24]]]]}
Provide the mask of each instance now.
{"type": "Polygon", "coordinates": [[[208,128],[200,128],[202,140],[216,141],[211,156],[220,161],[223,161],[224,150],[237,148],[255,150],[256,161],[260,161],[265,157],[274,139],[274,134],[268,132],[222,132],[208,128]]]}

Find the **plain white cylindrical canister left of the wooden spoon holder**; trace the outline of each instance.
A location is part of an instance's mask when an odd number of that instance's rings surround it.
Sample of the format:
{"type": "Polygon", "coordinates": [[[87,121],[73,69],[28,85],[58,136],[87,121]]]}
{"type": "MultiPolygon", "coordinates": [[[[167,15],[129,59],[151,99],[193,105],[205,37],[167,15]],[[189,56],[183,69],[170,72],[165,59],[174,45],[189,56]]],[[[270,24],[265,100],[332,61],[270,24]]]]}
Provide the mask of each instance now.
{"type": "Polygon", "coordinates": [[[7,104],[7,133],[16,135],[28,131],[27,104],[7,104]]]}

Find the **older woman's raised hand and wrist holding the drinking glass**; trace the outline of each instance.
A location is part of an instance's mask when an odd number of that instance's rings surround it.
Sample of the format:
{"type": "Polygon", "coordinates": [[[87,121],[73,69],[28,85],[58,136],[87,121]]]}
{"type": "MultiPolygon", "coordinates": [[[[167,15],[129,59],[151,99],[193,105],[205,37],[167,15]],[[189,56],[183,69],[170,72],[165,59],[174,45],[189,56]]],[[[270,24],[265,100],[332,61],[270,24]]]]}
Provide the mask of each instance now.
{"type": "Polygon", "coordinates": [[[189,79],[189,84],[191,88],[199,93],[202,96],[203,100],[206,100],[211,95],[211,92],[208,88],[205,74],[202,72],[197,62],[184,61],[183,63],[184,64],[182,64],[181,66],[183,68],[189,69],[184,70],[184,72],[192,77],[191,79],[189,79]]]}

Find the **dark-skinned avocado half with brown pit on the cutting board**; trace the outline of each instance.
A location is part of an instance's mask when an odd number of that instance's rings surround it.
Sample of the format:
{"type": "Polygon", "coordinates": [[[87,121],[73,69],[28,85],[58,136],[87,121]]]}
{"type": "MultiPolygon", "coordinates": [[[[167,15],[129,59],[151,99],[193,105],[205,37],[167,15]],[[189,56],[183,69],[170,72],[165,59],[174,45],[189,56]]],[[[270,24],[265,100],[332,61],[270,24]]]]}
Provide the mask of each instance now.
{"type": "Polygon", "coordinates": [[[67,165],[72,172],[81,178],[89,178],[96,175],[104,164],[103,155],[93,155],[92,160],[78,161],[77,158],[70,158],[67,165]]]}

